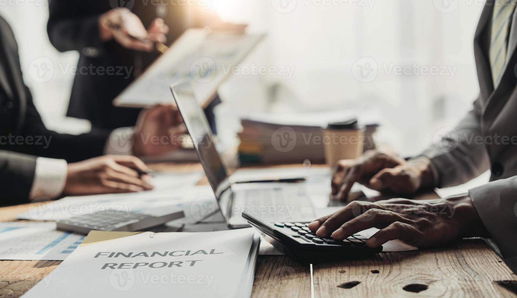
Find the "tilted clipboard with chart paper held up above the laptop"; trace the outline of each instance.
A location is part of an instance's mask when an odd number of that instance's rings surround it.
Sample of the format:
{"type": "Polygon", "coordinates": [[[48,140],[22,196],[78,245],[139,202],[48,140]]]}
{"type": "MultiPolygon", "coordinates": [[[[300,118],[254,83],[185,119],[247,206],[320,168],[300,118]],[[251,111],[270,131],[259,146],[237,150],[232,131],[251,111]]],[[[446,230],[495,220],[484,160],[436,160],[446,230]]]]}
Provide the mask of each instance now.
{"type": "Polygon", "coordinates": [[[229,77],[265,35],[207,33],[188,29],[126,87],[114,100],[119,107],[152,107],[174,104],[169,86],[190,79],[194,96],[206,108],[229,77]]]}

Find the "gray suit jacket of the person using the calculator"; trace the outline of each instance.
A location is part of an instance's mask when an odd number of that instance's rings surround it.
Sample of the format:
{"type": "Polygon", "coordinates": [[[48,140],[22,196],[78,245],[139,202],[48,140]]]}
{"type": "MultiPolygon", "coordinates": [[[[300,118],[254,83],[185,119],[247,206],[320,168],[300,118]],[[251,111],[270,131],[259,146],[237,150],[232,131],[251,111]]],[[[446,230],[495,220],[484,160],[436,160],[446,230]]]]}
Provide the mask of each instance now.
{"type": "Polygon", "coordinates": [[[491,182],[469,194],[505,261],[517,272],[517,11],[506,70],[494,89],[488,57],[493,3],[486,2],[474,38],[480,87],[474,108],[442,144],[422,155],[435,166],[439,187],[462,184],[492,170],[491,182]]]}

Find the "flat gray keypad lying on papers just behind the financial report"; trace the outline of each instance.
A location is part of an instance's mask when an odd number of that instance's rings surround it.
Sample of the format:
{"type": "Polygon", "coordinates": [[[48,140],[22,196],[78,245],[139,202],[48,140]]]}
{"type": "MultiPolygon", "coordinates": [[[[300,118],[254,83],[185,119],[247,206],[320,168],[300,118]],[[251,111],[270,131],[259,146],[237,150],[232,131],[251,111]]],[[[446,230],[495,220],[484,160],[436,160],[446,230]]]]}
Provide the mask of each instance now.
{"type": "Polygon", "coordinates": [[[74,216],[68,219],[62,219],[59,222],[73,226],[82,226],[93,230],[110,231],[132,222],[138,222],[153,217],[155,216],[137,212],[103,210],[90,214],[74,216]]]}

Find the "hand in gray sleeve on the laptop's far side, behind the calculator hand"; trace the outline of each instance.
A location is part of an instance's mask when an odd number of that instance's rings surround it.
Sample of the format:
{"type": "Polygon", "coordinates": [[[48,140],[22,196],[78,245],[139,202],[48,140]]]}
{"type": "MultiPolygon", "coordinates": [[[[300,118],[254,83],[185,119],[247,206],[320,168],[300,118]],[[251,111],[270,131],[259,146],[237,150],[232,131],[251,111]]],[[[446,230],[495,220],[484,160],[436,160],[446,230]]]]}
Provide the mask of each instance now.
{"type": "Polygon", "coordinates": [[[341,160],[334,168],[332,195],[346,200],[355,182],[372,190],[412,194],[434,183],[429,164],[406,162],[378,151],[368,151],[356,160],[341,160]]]}

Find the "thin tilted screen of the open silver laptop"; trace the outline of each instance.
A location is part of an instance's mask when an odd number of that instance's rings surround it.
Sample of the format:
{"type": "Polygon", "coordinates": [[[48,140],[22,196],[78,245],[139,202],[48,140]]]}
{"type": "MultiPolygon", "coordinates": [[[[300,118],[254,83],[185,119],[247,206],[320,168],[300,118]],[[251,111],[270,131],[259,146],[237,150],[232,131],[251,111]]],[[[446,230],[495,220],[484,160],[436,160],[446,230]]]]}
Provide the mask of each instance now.
{"type": "Polygon", "coordinates": [[[189,82],[181,81],[177,84],[173,84],[171,90],[179,112],[181,113],[181,117],[183,117],[187,130],[192,138],[194,149],[197,152],[197,156],[199,156],[208,181],[219,202],[221,211],[223,215],[226,216],[227,208],[230,203],[229,196],[224,195],[224,198],[222,198],[221,195],[226,190],[230,191],[225,192],[225,194],[231,193],[230,182],[226,168],[215,147],[214,136],[211,133],[205,113],[199,103],[197,103],[189,82]]]}

